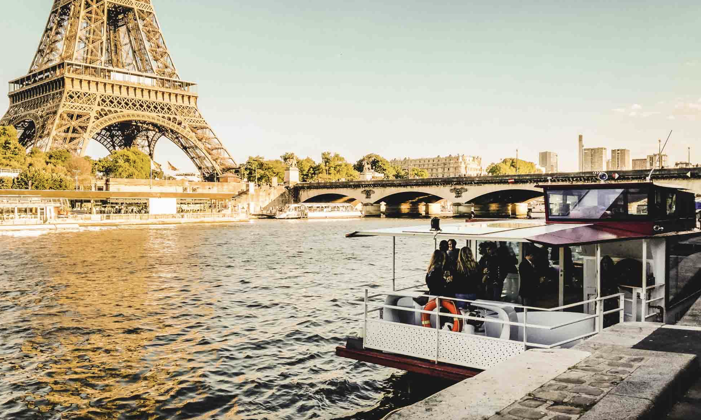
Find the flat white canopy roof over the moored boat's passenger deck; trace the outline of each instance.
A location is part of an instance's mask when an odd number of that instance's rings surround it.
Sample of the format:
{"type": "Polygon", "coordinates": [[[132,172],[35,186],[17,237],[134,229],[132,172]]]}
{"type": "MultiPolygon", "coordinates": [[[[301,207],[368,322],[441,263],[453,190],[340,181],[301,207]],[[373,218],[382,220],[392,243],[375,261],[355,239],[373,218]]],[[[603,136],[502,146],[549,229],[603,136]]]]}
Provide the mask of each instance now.
{"type": "MultiPolygon", "coordinates": [[[[441,222],[444,222],[443,220],[441,222]]],[[[430,222],[419,226],[404,226],[348,233],[346,238],[362,236],[441,236],[478,241],[529,242],[527,238],[590,224],[546,224],[545,220],[484,220],[462,223],[441,223],[441,231],[430,230],[430,222]]]]}

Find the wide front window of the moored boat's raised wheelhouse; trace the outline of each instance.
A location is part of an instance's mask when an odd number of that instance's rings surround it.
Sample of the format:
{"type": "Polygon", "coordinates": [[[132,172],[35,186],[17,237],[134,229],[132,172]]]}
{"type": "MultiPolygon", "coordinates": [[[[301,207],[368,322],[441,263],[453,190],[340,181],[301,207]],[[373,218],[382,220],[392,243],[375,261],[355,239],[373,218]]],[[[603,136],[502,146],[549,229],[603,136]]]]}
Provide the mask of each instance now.
{"type": "Polygon", "coordinates": [[[547,191],[550,219],[637,219],[648,215],[647,187],[547,191]]]}

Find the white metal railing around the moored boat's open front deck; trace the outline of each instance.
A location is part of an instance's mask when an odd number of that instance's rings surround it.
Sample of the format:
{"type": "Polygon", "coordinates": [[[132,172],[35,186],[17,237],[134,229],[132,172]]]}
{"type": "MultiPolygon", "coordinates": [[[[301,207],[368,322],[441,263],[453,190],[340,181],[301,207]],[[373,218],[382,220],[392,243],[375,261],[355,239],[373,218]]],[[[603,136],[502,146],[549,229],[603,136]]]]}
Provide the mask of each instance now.
{"type": "MultiPolygon", "coordinates": [[[[412,287],[415,287],[415,286],[412,286],[412,287]]],[[[465,322],[465,321],[467,321],[467,320],[474,320],[474,321],[478,321],[478,322],[480,322],[480,323],[496,323],[496,324],[501,324],[501,325],[509,325],[509,326],[512,326],[512,325],[513,325],[513,326],[517,326],[517,327],[522,327],[522,328],[523,328],[523,340],[522,340],[522,344],[523,344],[523,350],[525,351],[525,350],[527,350],[529,347],[531,347],[531,348],[533,348],[533,347],[536,347],[536,348],[555,348],[555,347],[563,346],[564,344],[569,344],[569,343],[571,343],[571,342],[573,342],[573,341],[577,341],[577,340],[580,340],[580,339],[585,339],[585,338],[587,338],[587,337],[592,337],[592,336],[594,336],[594,335],[596,335],[596,334],[599,334],[599,332],[601,332],[601,330],[603,330],[603,326],[604,326],[604,316],[606,316],[606,315],[608,315],[608,314],[610,314],[610,313],[618,312],[618,313],[619,313],[619,321],[620,321],[621,323],[623,322],[623,313],[624,313],[624,294],[623,294],[623,293],[611,294],[611,295],[609,295],[609,296],[597,297],[597,298],[594,298],[594,299],[588,299],[588,300],[585,300],[585,301],[583,301],[583,302],[576,302],[576,303],[573,303],[573,304],[567,304],[567,305],[563,305],[563,306],[557,306],[556,308],[538,308],[538,307],[535,307],[535,306],[524,306],[524,305],[508,304],[508,303],[501,303],[501,302],[492,302],[492,301],[482,301],[482,302],[478,302],[478,301],[476,301],[476,300],[457,299],[457,298],[454,298],[454,297],[442,297],[442,296],[433,297],[433,296],[430,296],[430,295],[428,295],[428,294],[416,295],[416,294],[402,294],[402,293],[397,293],[397,292],[398,292],[398,291],[386,292],[386,293],[381,293],[381,294],[373,294],[373,295],[370,295],[370,294],[369,294],[369,289],[367,289],[367,288],[365,289],[365,297],[364,297],[363,302],[362,302],[363,311],[360,312],[360,313],[354,313],[354,314],[353,314],[353,316],[362,316],[362,317],[363,317],[363,318],[362,318],[362,323],[363,323],[363,330],[364,330],[364,332],[367,332],[367,323],[368,323],[368,320],[369,320],[368,315],[369,315],[370,313],[375,313],[375,312],[383,311],[384,309],[395,309],[395,310],[397,310],[397,311],[408,311],[408,312],[412,312],[412,313],[426,313],[426,314],[429,314],[429,315],[436,316],[436,317],[437,317],[437,318],[436,318],[437,320],[440,320],[440,317],[441,317],[441,316],[445,316],[445,317],[447,317],[447,318],[459,318],[459,319],[463,320],[463,322],[465,322]],[[390,295],[390,294],[393,295],[393,296],[400,296],[400,297],[412,297],[412,298],[414,298],[414,297],[428,297],[429,299],[435,298],[436,301],[437,301],[437,302],[436,302],[436,303],[437,303],[436,309],[435,309],[434,311],[425,311],[425,310],[423,310],[423,309],[406,308],[406,307],[403,307],[403,306],[388,305],[388,304],[385,304],[385,303],[383,303],[383,302],[381,303],[381,302],[371,302],[371,301],[370,301],[370,299],[372,299],[373,297],[385,296],[385,295],[390,295]],[[441,301],[442,299],[450,300],[450,301],[453,301],[453,302],[467,302],[467,303],[469,303],[469,304],[475,304],[475,306],[477,306],[477,307],[480,307],[480,306],[493,306],[493,307],[494,307],[494,306],[496,306],[496,307],[501,307],[501,308],[503,308],[503,307],[510,307],[510,308],[513,308],[514,310],[516,310],[516,309],[522,309],[523,314],[524,314],[524,316],[523,316],[523,322],[512,322],[512,321],[501,320],[501,319],[496,319],[496,318],[482,318],[482,317],[479,317],[479,318],[478,318],[478,317],[474,317],[474,316],[468,316],[468,315],[462,315],[462,314],[453,314],[453,313],[441,313],[441,312],[440,312],[440,308],[441,308],[440,301],[441,301]],[[603,310],[604,301],[606,301],[607,299],[618,299],[618,308],[611,309],[610,311],[604,311],[604,310],[603,310]],[[566,321],[566,322],[564,322],[564,323],[559,323],[559,324],[557,324],[557,325],[538,325],[538,324],[533,324],[533,323],[529,323],[529,322],[528,322],[528,314],[529,314],[529,311],[539,311],[539,312],[562,311],[563,309],[569,309],[569,308],[572,308],[572,307],[574,307],[574,306],[582,306],[582,305],[589,304],[589,303],[592,303],[592,302],[596,302],[597,313],[584,316],[583,318],[579,318],[579,319],[576,319],[576,320],[569,320],[569,321],[566,321]],[[571,338],[568,338],[568,339],[564,339],[564,340],[559,341],[559,342],[554,343],[554,344],[539,344],[539,343],[532,343],[532,342],[528,341],[528,332],[527,332],[527,331],[528,331],[528,328],[535,328],[535,329],[538,329],[538,330],[557,330],[558,328],[566,327],[567,325],[573,325],[573,324],[585,322],[585,321],[588,321],[588,320],[595,320],[595,321],[594,321],[594,331],[593,331],[593,332],[588,332],[588,333],[586,333],[586,334],[580,334],[580,335],[577,336],[577,337],[571,337],[571,338]]],[[[360,302],[353,302],[353,301],[351,301],[351,303],[359,304],[360,302]]],[[[489,310],[489,309],[487,309],[487,310],[489,310]]],[[[400,324],[400,325],[404,325],[404,324],[402,324],[402,323],[394,323],[394,322],[390,322],[390,321],[384,321],[384,322],[385,322],[385,323],[390,323],[390,324],[400,324]]],[[[421,328],[425,328],[425,327],[421,327],[421,328]]],[[[438,337],[438,334],[440,334],[440,331],[441,331],[441,325],[440,325],[440,322],[438,322],[438,321],[436,322],[435,330],[437,330],[437,336],[436,336],[436,337],[438,337]]],[[[364,334],[365,334],[365,333],[364,333],[364,334]]],[[[482,337],[482,336],[477,336],[477,337],[482,337]]],[[[497,341],[503,341],[503,342],[508,342],[508,343],[514,343],[514,342],[516,341],[516,340],[512,340],[512,339],[501,339],[501,338],[498,338],[498,337],[482,337],[482,338],[485,338],[485,339],[486,339],[486,338],[489,338],[489,339],[493,339],[493,340],[497,340],[497,341]]],[[[365,345],[365,344],[364,344],[364,345],[365,345]]],[[[436,340],[435,359],[434,359],[434,360],[435,360],[435,363],[438,363],[438,360],[439,360],[439,351],[440,351],[440,340],[437,339],[437,340],[436,340]]]]}

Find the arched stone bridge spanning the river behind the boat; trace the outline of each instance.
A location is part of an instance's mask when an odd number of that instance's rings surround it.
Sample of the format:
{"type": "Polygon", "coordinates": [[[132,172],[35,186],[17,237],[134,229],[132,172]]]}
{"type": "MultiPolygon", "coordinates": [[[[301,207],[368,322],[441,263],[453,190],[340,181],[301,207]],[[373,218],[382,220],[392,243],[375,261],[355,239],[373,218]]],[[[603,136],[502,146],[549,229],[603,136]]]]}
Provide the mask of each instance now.
{"type": "MultiPolygon", "coordinates": [[[[649,170],[608,172],[607,183],[643,182],[649,170]]],[[[538,184],[598,183],[599,172],[499,175],[488,177],[448,177],[422,179],[383,179],[375,181],[304,182],[293,187],[299,203],[353,203],[386,207],[387,212],[433,214],[447,205],[472,203],[480,206],[527,203],[543,196],[538,184]],[[419,207],[423,208],[421,210],[419,207]],[[430,207],[432,210],[428,210],[430,207]]],[[[701,194],[701,168],[662,169],[653,172],[653,181],[674,184],[701,194]]],[[[469,212],[470,210],[466,210],[469,212]]]]}

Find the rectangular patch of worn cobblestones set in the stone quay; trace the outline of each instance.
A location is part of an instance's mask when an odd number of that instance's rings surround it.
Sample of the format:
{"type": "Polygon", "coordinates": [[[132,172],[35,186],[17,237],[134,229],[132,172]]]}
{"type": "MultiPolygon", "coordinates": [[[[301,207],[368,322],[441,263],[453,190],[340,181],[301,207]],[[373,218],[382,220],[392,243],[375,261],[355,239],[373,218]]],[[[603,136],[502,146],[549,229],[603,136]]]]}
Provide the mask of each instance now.
{"type": "Polygon", "coordinates": [[[594,353],[489,420],[574,420],[620,384],[646,358],[594,353]]]}

